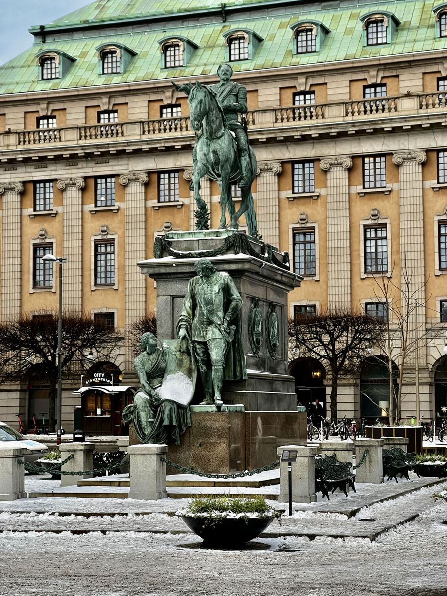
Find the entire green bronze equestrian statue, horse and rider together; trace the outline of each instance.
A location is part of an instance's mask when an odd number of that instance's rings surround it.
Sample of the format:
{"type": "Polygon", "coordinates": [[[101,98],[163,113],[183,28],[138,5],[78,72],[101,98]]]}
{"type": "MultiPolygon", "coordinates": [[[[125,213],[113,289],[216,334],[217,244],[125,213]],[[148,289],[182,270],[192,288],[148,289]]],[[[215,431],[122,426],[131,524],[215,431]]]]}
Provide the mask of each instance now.
{"type": "Polygon", "coordinates": [[[249,145],[245,119],[239,114],[247,112],[247,89],[231,80],[233,69],[229,64],[218,68],[219,83],[216,85],[176,85],[178,91],[188,95],[191,126],[201,131],[193,151],[193,187],[197,203],[197,229],[208,229],[209,215],[206,203],[200,197],[200,178],[207,175],[216,180],[221,188],[221,222],[219,229],[226,228],[226,209],[231,218],[230,227],[239,228],[239,218],[245,214],[249,234],[257,237],[256,213],[252,195],[252,183],[256,176],[257,162],[249,145]],[[232,182],[241,188],[241,204],[236,211],[231,195],[232,182]]]}

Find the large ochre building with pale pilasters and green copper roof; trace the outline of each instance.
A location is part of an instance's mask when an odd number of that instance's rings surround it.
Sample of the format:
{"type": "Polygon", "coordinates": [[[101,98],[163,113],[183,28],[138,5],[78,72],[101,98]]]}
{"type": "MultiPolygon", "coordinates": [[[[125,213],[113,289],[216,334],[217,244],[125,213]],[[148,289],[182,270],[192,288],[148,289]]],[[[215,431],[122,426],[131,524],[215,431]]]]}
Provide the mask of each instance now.
{"type": "MultiPolygon", "coordinates": [[[[260,233],[304,276],[290,316],[363,309],[393,326],[377,278],[409,278],[418,349],[403,412],[415,412],[415,368],[421,413],[447,405],[447,4],[189,0],[162,12],[110,0],[30,32],[32,48],[0,67],[2,321],[57,308],[45,253],[67,259],[65,309],[124,333],[154,310],[136,263],[155,235],[194,225],[195,135],[172,82],[214,83],[228,61],[248,91],[260,233]]],[[[218,186],[204,179],[201,193],[217,228],[218,186]]],[[[131,374],[129,346],[117,364],[131,374]]],[[[313,364],[291,362],[303,399],[324,395],[313,364]]],[[[383,413],[364,398],[380,384],[370,369],[340,387],[341,415],[383,413]]],[[[29,399],[26,385],[3,387],[0,419],[31,415],[29,399]]]]}

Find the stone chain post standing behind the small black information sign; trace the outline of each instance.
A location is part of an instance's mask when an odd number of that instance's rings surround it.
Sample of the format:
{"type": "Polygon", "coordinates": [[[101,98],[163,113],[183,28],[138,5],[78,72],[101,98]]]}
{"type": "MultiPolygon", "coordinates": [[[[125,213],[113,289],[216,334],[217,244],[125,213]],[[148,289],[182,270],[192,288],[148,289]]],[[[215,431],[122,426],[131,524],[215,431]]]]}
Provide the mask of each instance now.
{"type": "Polygon", "coordinates": [[[292,467],[292,501],[294,503],[312,503],[316,501],[315,494],[315,455],[316,447],[303,447],[302,445],[281,445],[277,454],[280,458],[280,496],[281,503],[288,501],[288,464],[281,462],[283,451],[297,451],[296,462],[292,467]]]}

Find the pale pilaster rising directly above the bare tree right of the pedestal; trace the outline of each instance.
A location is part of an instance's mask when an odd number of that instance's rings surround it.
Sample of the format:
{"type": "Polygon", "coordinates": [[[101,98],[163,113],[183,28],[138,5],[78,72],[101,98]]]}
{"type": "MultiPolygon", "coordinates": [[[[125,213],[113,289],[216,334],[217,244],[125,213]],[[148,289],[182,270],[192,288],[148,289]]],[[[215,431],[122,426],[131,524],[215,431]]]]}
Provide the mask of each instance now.
{"type": "Polygon", "coordinates": [[[351,262],[349,231],[350,157],[322,159],[327,172],[327,262],[328,305],[332,309],[351,307],[351,262]]]}

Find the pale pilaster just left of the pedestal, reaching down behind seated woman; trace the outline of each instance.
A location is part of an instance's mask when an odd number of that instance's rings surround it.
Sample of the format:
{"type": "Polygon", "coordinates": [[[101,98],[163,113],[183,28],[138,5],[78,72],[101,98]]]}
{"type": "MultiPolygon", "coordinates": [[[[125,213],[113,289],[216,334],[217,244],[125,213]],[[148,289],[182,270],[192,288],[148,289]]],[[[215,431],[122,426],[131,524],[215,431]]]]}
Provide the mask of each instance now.
{"type": "Polygon", "coordinates": [[[145,315],[145,278],[136,263],[145,257],[145,191],[146,172],[122,174],[120,184],[126,189],[125,256],[124,256],[124,321],[126,369],[132,368],[132,347],[129,327],[135,319],[145,315]]]}

